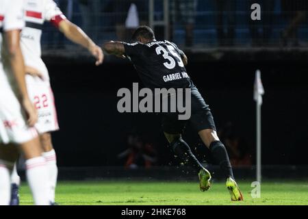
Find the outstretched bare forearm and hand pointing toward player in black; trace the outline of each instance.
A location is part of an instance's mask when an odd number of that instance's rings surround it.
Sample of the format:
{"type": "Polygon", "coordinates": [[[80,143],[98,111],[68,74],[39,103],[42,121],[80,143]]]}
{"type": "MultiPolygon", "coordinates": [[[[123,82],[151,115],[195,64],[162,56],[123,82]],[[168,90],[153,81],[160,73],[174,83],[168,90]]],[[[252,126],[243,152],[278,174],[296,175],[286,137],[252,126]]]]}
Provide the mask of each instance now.
{"type": "Polygon", "coordinates": [[[103,63],[103,51],[86,35],[80,27],[71,23],[67,19],[64,19],[59,23],[59,29],[66,36],[66,38],[81,45],[81,47],[88,49],[88,51],[90,51],[90,53],[97,59],[97,62],[95,63],[97,66],[103,63]]]}

